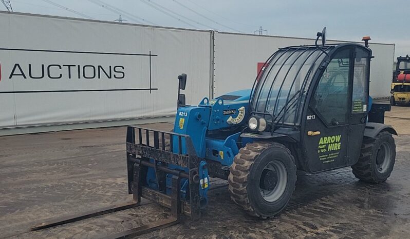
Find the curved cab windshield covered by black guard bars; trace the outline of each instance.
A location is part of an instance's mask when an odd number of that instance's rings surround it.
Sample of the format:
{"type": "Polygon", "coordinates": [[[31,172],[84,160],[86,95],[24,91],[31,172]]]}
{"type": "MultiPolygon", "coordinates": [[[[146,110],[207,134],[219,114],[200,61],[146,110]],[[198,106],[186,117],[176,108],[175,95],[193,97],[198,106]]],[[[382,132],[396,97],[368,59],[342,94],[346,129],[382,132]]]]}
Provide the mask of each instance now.
{"type": "MultiPolygon", "coordinates": [[[[322,49],[329,52],[333,47],[322,49]]],[[[275,123],[299,125],[306,91],[325,56],[316,47],[278,50],[255,87],[252,111],[273,114],[275,123]]],[[[266,120],[272,121],[272,118],[266,120]]]]}

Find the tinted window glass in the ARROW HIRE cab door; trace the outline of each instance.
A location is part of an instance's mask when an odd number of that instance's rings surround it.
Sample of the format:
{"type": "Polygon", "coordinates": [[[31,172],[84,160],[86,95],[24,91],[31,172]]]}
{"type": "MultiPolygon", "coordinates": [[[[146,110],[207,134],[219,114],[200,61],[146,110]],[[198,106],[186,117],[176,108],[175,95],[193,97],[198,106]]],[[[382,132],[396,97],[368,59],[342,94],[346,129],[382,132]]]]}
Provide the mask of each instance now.
{"type": "Polygon", "coordinates": [[[327,125],[348,122],[350,65],[350,49],[341,50],[334,55],[310,101],[310,106],[327,125]]]}

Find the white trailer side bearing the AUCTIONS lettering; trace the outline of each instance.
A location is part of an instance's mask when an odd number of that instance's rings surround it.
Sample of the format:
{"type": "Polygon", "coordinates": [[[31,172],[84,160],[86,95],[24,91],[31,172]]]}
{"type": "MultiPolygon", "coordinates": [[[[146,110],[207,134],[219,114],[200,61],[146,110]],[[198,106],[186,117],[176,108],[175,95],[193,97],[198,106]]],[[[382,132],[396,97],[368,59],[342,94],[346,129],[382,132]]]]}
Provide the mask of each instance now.
{"type": "Polygon", "coordinates": [[[0,29],[4,130],[169,116],[181,72],[191,80],[187,101],[209,94],[209,31],[4,12],[0,29]]]}

